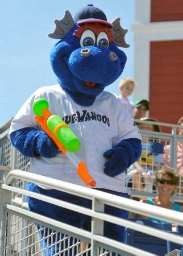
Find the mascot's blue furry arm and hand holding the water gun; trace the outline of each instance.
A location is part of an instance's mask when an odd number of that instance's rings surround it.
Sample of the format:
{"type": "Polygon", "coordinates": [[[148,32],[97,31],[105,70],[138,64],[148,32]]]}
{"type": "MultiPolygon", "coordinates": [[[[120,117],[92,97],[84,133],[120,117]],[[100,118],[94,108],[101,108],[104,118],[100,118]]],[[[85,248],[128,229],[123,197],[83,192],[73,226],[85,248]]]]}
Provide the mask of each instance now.
{"type": "Polygon", "coordinates": [[[10,134],[11,143],[25,156],[52,158],[59,151],[55,142],[44,131],[26,127],[10,134]]]}

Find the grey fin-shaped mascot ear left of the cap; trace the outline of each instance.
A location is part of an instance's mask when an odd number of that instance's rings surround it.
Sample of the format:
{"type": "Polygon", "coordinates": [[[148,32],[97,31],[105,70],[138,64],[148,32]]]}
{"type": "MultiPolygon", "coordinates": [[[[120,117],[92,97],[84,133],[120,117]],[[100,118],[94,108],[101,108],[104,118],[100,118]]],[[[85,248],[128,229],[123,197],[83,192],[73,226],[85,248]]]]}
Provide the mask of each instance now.
{"type": "Polygon", "coordinates": [[[62,19],[55,19],[56,24],[55,31],[53,33],[49,33],[48,36],[50,38],[55,39],[63,39],[65,34],[74,26],[74,20],[72,15],[69,13],[68,10],[65,11],[64,18],[62,19]]]}

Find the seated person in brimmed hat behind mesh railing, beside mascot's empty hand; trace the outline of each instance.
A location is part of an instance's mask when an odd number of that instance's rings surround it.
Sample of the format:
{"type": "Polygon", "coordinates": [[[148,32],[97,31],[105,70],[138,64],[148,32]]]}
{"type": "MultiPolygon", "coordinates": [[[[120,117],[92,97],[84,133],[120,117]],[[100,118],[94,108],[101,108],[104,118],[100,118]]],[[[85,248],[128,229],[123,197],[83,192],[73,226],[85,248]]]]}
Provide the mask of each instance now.
{"type": "MultiPolygon", "coordinates": [[[[155,118],[141,118],[142,121],[157,122],[155,118]]],[[[138,123],[140,130],[160,132],[159,125],[150,125],[149,123],[138,123]]],[[[154,171],[159,170],[163,159],[163,144],[153,141],[153,138],[143,137],[142,155],[138,162],[132,164],[128,169],[128,187],[134,191],[152,192],[152,178],[154,171]]]]}

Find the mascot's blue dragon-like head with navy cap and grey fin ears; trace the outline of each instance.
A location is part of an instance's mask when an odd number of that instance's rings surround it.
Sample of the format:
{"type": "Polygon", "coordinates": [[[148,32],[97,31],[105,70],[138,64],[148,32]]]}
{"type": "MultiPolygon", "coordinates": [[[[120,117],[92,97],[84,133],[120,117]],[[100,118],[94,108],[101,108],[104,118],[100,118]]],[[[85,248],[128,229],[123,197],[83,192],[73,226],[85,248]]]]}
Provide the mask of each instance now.
{"type": "Polygon", "coordinates": [[[123,72],[126,55],[119,47],[129,47],[120,27],[120,18],[107,22],[102,10],[88,5],[74,19],[68,10],[55,19],[49,37],[60,39],[51,52],[51,65],[61,87],[80,105],[89,106],[123,72]]]}

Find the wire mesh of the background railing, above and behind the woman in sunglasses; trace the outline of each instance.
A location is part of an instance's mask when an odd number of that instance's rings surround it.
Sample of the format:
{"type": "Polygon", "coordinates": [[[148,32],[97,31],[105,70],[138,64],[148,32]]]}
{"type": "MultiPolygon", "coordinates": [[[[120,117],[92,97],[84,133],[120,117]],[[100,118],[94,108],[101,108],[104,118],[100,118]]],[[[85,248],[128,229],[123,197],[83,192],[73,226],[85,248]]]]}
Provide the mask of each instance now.
{"type": "MultiPolygon", "coordinates": [[[[127,170],[128,187],[132,192],[156,193],[155,177],[157,171],[161,167],[174,167],[173,169],[180,175],[179,183],[177,186],[176,196],[183,196],[183,141],[177,139],[177,152],[176,158],[174,155],[174,142],[170,137],[159,134],[159,137],[151,134],[142,134],[142,155],[138,162],[132,164],[127,170]],[[176,164],[173,164],[176,161],[176,164]]],[[[136,193],[138,195],[138,193],[136,193]]]]}

